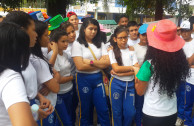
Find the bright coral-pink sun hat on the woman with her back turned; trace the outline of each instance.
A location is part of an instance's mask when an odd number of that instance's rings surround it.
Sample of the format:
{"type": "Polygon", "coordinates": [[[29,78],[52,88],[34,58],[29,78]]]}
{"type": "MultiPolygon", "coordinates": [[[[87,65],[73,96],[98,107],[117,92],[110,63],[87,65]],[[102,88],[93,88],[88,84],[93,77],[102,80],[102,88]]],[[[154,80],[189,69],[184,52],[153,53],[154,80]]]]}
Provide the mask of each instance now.
{"type": "Polygon", "coordinates": [[[185,41],[176,33],[177,27],[172,21],[160,20],[148,26],[148,44],[165,52],[179,51],[184,46],[185,41]]]}

